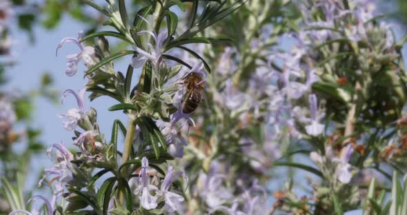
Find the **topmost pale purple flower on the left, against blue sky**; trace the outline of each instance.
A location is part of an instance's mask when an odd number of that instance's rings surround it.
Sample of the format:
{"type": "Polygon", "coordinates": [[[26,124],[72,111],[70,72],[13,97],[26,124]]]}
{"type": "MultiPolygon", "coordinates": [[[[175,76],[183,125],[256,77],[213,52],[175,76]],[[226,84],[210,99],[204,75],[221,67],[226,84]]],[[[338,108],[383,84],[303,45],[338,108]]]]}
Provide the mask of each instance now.
{"type": "Polygon", "coordinates": [[[57,54],[59,48],[62,47],[64,43],[75,43],[78,45],[79,49],[81,50],[78,54],[70,54],[66,57],[66,72],[67,76],[74,76],[77,73],[78,62],[83,60],[86,67],[90,68],[95,65],[97,62],[95,61],[95,48],[91,46],[85,46],[79,41],[83,38],[83,32],[78,32],[78,38],[75,39],[73,37],[66,37],[64,38],[61,43],[59,43],[57,47],[57,54]]]}

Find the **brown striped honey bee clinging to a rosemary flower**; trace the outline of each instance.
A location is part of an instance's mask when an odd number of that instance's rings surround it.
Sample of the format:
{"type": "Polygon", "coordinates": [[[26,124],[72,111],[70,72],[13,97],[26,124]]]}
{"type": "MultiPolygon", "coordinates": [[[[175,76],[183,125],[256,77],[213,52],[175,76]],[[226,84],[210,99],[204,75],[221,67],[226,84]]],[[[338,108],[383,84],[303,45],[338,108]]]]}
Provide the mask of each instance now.
{"type": "Polygon", "coordinates": [[[205,78],[201,76],[200,72],[190,72],[183,77],[183,84],[186,85],[186,94],[181,103],[182,112],[184,114],[190,114],[194,112],[201,103],[202,91],[205,85],[205,78]]]}

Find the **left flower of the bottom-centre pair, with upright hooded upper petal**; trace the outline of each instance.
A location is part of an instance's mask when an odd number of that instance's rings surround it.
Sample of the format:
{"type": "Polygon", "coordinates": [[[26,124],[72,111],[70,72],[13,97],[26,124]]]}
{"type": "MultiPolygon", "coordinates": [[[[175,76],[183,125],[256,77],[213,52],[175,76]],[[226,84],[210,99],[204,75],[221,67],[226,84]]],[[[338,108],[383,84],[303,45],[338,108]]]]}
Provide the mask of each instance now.
{"type": "Polygon", "coordinates": [[[155,209],[157,207],[157,192],[159,191],[155,185],[150,185],[148,178],[148,159],[141,159],[141,171],[139,174],[139,185],[134,194],[139,196],[140,205],[144,209],[155,209]],[[151,192],[155,193],[154,195],[151,192]]]}

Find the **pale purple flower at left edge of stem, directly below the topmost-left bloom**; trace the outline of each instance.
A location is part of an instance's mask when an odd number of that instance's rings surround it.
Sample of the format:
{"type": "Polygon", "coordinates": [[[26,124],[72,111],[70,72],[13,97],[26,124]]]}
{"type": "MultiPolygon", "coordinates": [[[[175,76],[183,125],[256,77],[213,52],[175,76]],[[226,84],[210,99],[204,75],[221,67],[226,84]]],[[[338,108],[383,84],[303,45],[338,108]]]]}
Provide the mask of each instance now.
{"type": "Polygon", "coordinates": [[[74,92],[73,90],[66,90],[63,92],[63,98],[68,96],[68,94],[72,94],[75,96],[75,99],[77,99],[78,103],[78,108],[72,108],[68,110],[67,114],[58,114],[59,118],[66,119],[66,121],[63,121],[62,126],[68,130],[72,131],[77,128],[78,121],[83,119],[83,117],[86,117],[86,110],[85,110],[85,93],[86,93],[86,88],[83,88],[79,90],[78,93],[74,92]]]}

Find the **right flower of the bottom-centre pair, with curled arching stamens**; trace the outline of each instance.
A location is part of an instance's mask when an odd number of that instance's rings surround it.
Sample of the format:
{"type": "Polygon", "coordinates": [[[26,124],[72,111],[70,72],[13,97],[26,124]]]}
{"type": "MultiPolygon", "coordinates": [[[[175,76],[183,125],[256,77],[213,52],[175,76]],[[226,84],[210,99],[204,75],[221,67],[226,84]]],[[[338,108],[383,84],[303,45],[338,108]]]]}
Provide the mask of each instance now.
{"type": "Polygon", "coordinates": [[[178,171],[178,172],[173,172],[173,167],[172,165],[168,165],[168,171],[166,174],[166,177],[164,178],[163,183],[161,184],[161,189],[160,189],[160,195],[164,196],[164,199],[166,201],[166,205],[164,206],[166,209],[166,212],[175,212],[179,210],[179,204],[184,201],[183,196],[176,194],[175,192],[170,192],[170,187],[172,185],[172,182],[175,181],[175,179],[178,176],[183,176],[186,178],[186,183],[188,184],[188,176],[186,176],[186,173],[183,171],[178,171]]]}

